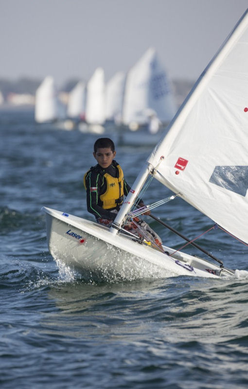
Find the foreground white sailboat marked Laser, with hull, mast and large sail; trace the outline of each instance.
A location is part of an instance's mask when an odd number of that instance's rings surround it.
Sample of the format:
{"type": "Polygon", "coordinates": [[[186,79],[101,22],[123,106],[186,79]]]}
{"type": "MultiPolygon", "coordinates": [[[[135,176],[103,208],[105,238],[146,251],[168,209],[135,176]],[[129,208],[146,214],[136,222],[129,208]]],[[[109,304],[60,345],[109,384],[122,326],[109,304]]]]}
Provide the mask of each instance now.
{"type": "Polygon", "coordinates": [[[172,248],[163,247],[167,254],[159,252],[125,235],[122,225],[127,217],[137,215],[132,207],[147,178],[153,176],[248,244],[247,46],[248,10],[146,160],[110,230],[43,208],[49,250],[58,265],[84,276],[95,274],[98,279],[134,279],[149,274],[218,278],[234,273],[223,265],[175,253],[172,248]]]}

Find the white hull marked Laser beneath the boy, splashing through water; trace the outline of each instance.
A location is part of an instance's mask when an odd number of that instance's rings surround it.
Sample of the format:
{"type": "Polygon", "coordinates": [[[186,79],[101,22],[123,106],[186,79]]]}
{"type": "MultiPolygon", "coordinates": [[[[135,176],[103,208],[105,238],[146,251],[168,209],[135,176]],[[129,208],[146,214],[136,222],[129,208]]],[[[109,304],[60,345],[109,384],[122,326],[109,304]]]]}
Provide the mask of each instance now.
{"type": "MultiPolygon", "coordinates": [[[[177,252],[173,257],[107,227],[50,208],[47,217],[49,250],[60,269],[80,273],[86,280],[120,281],[179,275],[213,277],[232,274],[218,265],[177,252]],[[206,270],[208,269],[208,270],[206,270]],[[216,271],[212,274],[209,271],[216,271]]],[[[164,247],[172,253],[174,249],[164,247]]]]}

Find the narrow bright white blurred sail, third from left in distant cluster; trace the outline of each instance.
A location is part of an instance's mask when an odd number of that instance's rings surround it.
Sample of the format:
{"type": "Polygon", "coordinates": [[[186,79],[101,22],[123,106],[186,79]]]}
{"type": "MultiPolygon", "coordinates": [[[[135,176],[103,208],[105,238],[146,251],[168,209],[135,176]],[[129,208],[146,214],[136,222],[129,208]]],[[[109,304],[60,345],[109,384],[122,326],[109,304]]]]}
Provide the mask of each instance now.
{"type": "Polygon", "coordinates": [[[86,121],[88,124],[105,122],[104,70],[97,68],[87,84],[86,121]]]}

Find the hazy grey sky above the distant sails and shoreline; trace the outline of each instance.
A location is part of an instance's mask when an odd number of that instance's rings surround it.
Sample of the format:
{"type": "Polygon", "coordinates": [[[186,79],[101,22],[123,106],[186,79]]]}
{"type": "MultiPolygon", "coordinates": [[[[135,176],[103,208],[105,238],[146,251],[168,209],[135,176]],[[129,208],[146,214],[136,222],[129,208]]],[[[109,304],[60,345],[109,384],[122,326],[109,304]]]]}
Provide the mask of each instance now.
{"type": "Polygon", "coordinates": [[[195,80],[248,0],[0,0],[0,78],[106,80],[153,46],[172,78],[195,80]]]}

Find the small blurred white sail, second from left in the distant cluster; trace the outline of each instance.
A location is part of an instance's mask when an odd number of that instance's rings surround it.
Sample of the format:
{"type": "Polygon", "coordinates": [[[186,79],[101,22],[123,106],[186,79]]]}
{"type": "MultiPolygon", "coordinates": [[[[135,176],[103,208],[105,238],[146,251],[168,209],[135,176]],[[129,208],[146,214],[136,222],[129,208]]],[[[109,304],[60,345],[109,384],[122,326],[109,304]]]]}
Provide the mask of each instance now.
{"type": "Polygon", "coordinates": [[[86,85],[79,81],[69,94],[67,115],[70,118],[82,118],[85,115],[86,85]]]}

